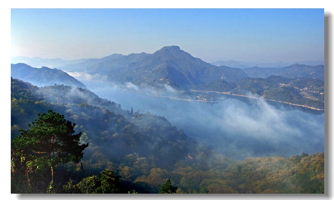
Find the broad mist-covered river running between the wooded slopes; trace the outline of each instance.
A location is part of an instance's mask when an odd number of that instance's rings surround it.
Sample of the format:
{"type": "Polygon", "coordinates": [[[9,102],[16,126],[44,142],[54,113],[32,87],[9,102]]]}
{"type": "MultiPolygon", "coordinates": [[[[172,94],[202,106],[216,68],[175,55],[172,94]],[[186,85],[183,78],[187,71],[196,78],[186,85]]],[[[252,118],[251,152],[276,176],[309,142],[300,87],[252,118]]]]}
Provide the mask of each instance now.
{"type": "Polygon", "coordinates": [[[324,111],[223,94],[217,103],[183,101],[131,92],[102,81],[79,81],[125,110],[132,107],[164,116],[198,142],[235,159],[324,152],[324,111]]]}

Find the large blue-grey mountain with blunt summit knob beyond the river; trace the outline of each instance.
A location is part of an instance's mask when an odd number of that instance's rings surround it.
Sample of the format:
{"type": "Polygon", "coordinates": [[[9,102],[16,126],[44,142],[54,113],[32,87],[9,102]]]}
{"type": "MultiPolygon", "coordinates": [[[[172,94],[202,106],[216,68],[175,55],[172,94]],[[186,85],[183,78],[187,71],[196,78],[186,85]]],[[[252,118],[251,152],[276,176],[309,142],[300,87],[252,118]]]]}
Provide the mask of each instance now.
{"type": "Polygon", "coordinates": [[[218,67],[194,58],[179,46],[165,46],[153,54],[113,54],[80,64],[66,65],[63,69],[98,73],[105,75],[111,82],[131,82],[153,87],[169,85],[177,89],[189,89],[216,79],[238,81],[247,77],[238,68],[218,67]]]}

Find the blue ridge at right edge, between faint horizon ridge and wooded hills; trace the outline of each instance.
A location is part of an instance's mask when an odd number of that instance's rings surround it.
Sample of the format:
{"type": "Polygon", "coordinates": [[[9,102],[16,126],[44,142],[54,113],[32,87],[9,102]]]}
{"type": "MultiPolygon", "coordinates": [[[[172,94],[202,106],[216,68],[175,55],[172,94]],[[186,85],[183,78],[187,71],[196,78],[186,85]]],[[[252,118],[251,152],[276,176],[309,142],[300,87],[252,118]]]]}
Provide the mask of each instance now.
{"type": "Polygon", "coordinates": [[[313,78],[324,81],[324,65],[300,65],[294,64],[287,67],[269,68],[269,67],[250,67],[242,69],[249,77],[266,78],[271,75],[282,76],[285,78],[313,78]]]}

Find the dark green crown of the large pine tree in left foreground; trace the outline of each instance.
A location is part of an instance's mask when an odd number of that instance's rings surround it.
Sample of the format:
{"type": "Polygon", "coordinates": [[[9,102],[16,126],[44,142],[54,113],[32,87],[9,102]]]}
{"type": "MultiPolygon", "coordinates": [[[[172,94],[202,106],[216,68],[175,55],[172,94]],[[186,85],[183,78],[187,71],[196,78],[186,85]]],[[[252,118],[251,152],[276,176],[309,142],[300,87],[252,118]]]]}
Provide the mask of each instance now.
{"type": "MultiPolygon", "coordinates": [[[[21,130],[21,135],[13,140],[14,151],[24,151],[34,157],[36,167],[41,163],[55,166],[59,163],[78,162],[88,144],[80,144],[81,133],[74,134],[71,121],[52,110],[38,113],[39,118],[29,124],[29,130],[21,130]]],[[[33,164],[34,165],[34,164],[33,164]]]]}

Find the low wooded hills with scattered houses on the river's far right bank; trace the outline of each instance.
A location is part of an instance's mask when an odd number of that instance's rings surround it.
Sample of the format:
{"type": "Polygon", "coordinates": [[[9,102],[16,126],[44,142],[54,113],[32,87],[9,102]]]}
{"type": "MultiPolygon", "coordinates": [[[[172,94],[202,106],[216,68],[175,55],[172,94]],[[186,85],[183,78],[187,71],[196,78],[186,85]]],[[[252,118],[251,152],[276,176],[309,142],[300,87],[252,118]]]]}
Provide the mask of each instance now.
{"type": "MultiPolygon", "coordinates": [[[[215,80],[193,89],[258,97],[324,110],[324,86],[324,81],[320,79],[284,78],[271,75],[267,78],[243,78],[235,82],[215,80]]],[[[208,94],[202,94],[198,98],[211,101],[218,99],[208,94]]]]}

